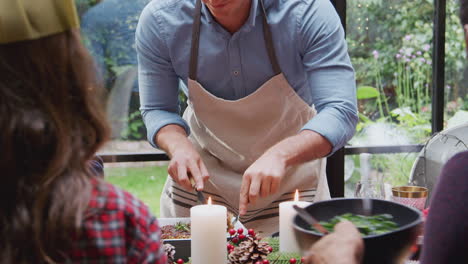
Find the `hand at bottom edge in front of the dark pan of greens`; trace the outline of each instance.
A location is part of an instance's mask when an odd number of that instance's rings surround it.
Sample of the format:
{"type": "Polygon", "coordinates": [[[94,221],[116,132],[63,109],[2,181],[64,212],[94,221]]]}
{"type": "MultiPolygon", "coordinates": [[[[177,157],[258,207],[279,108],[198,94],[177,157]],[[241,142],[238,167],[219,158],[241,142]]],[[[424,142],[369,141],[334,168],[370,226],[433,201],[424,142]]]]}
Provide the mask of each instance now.
{"type": "Polygon", "coordinates": [[[364,255],[364,241],[349,221],[335,226],[333,233],[317,241],[305,257],[305,264],[358,264],[364,255]]]}

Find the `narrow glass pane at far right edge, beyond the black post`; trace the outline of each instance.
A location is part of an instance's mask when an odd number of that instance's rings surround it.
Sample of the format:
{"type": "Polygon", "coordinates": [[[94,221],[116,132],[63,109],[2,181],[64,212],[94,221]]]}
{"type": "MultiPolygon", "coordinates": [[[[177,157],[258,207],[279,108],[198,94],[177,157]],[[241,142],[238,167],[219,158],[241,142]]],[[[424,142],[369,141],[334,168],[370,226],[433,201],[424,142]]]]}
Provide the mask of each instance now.
{"type": "Polygon", "coordinates": [[[445,116],[444,127],[468,122],[468,68],[459,1],[447,1],[445,45],[445,116]]]}

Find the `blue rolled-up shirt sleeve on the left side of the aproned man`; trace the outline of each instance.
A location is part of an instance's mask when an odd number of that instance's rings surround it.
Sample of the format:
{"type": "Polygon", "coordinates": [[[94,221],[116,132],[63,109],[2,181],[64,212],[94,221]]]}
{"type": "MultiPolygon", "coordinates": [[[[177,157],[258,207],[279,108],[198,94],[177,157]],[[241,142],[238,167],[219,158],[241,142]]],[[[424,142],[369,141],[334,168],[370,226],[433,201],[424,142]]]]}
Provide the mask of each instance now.
{"type": "Polygon", "coordinates": [[[180,125],[187,134],[190,133],[187,123],[178,114],[179,78],[174,72],[165,39],[164,28],[148,5],[140,16],[135,43],[140,111],[148,131],[148,141],[156,148],[154,136],[166,125],[180,125]]]}

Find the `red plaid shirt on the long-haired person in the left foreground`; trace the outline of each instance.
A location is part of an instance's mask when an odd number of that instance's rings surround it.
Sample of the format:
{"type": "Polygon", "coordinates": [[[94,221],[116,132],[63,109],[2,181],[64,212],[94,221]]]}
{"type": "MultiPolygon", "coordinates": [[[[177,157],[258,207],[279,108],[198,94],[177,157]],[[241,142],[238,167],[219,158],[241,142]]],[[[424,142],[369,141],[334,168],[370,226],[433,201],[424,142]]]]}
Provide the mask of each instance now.
{"type": "Polygon", "coordinates": [[[93,185],[87,217],[68,254],[71,262],[166,264],[161,231],[148,207],[112,184],[93,185]]]}

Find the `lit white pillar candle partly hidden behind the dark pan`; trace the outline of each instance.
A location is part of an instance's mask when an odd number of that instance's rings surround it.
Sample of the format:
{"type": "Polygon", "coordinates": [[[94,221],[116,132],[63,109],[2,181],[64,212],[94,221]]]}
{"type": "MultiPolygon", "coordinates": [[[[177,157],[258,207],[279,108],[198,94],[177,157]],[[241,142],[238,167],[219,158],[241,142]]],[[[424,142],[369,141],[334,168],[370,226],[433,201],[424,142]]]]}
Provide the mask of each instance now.
{"type": "Polygon", "coordinates": [[[293,205],[299,207],[306,207],[309,202],[299,201],[299,192],[296,190],[294,201],[282,202],[279,205],[280,209],[280,251],[301,253],[299,244],[296,242],[296,236],[294,234],[293,220],[296,216],[296,210],[293,205]]]}

